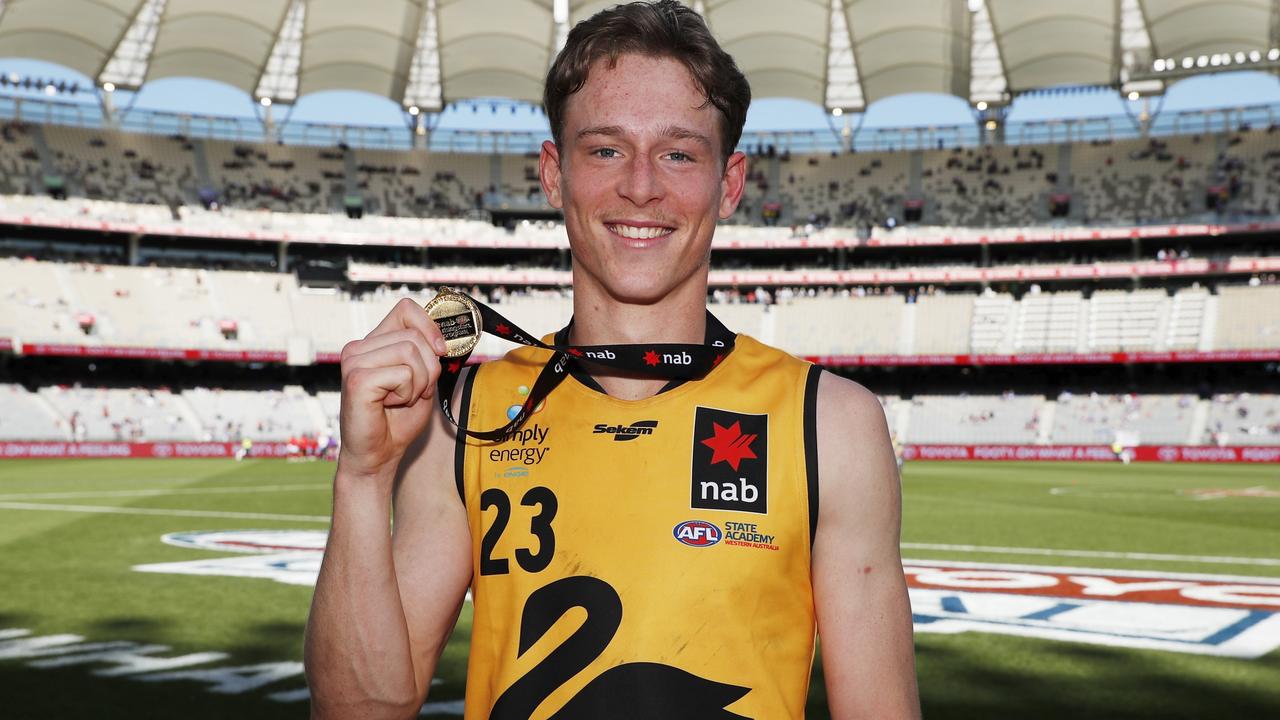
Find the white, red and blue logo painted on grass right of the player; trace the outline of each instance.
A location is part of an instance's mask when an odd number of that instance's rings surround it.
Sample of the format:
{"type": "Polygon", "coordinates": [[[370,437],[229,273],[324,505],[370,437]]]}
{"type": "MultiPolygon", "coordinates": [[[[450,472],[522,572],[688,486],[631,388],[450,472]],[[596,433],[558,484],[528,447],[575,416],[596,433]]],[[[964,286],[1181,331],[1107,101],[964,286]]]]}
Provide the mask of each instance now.
{"type": "Polygon", "coordinates": [[[1280,579],[904,560],[916,633],[996,633],[1261,657],[1280,579]]]}

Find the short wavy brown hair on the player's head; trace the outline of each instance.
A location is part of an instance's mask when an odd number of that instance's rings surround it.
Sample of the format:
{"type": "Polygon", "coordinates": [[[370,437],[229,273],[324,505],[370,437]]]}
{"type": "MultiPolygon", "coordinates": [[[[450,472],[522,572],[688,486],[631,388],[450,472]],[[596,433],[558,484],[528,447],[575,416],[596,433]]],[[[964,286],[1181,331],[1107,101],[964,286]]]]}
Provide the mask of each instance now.
{"type": "Polygon", "coordinates": [[[676,0],[616,5],[573,26],[543,88],[556,145],[562,141],[564,105],[586,85],[591,65],[607,58],[612,68],[628,53],[672,58],[689,69],[707,104],[721,111],[721,161],[727,161],[742,137],[751,86],[701,15],[676,0]]]}

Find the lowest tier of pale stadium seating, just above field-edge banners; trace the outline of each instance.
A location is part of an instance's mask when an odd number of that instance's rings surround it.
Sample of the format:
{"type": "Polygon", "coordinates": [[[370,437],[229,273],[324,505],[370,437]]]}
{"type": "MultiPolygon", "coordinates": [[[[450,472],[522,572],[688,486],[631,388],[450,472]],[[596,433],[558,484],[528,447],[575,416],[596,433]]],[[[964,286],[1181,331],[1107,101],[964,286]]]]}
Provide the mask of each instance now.
{"type": "MultiPolygon", "coordinates": [[[[339,395],[0,384],[0,441],[284,441],[337,434],[339,395]],[[74,428],[74,429],[73,429],[74,428]]],[[[881,396],[890,432],[938,445],[1280,445],[1280,395],[881,396]],[[1050,420],[1051,419],[1051,420],[1050,420]],[[1048,424],[1048,427],[1046,427],[1048,424]]]]}

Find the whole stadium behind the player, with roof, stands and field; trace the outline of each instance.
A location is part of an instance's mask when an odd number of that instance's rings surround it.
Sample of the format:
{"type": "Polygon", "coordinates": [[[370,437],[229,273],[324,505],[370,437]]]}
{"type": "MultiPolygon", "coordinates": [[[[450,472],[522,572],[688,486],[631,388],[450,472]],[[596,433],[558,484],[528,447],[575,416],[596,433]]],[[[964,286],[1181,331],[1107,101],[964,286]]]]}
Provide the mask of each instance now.
{"type": "MultiPolygon", "coordinates": [[[[570,320],[539,102],[612,3],[356,5],[0,0],[6,717],[306,716],[343,346],[442,286],[570,320]],[[166,78],[250,110],[138,106],[166,78]],[[293,119],[326,91],[399,126],[293,119]]],[[[924,714],[1280,715],[1280,92],[1165,109],[1274,86],[1280,4],[692,6],[822,117],[749,123],[707,301],[879,397],[924,714]],[[908,94],[966,122],[867,124],[908,94]]]]}

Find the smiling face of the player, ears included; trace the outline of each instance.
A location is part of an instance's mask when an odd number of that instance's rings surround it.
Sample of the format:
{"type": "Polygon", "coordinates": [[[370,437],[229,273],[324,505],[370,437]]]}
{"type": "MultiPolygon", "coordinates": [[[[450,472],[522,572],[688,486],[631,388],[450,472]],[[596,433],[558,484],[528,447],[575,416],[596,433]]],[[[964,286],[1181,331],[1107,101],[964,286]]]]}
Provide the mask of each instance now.
{"type": "Polygon", "coordinates": [[[722,159],[719,110],[678,60],[591,65],[543,143],[543,190],[564,211],[575,292],[653,304],[705,293],[717,219],[737,209],[746,158],[722,159]],[[700,290],[699,290],[700,288],[700,290]]]}

